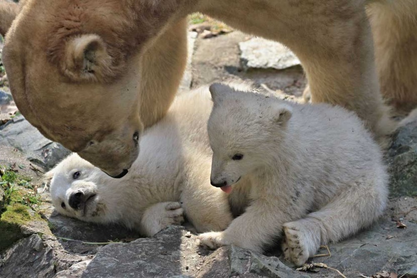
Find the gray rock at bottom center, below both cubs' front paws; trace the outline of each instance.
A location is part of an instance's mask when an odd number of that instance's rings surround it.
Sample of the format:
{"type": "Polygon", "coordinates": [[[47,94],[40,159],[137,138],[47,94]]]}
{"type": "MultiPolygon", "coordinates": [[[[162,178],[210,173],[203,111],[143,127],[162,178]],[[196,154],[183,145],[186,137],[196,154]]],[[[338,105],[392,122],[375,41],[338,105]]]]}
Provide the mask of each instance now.
{"type": "Polygon", "coordinates": [[[266,257],[237,247],[200,249],[183,227],[170,226],[154,238],[102,247],[81,277],[308,277],[266,257]]]}

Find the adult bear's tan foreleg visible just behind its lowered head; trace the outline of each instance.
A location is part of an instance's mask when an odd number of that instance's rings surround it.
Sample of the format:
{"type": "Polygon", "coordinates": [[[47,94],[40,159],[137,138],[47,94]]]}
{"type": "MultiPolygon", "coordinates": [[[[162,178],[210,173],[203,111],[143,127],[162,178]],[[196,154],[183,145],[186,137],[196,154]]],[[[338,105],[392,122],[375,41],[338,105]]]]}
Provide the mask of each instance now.
{"type": "Polygon", "coordinates": [[[141,55],[140,113],[144,127],[165,116],[187,61],[187,21],[170,25],[141,55]]]}

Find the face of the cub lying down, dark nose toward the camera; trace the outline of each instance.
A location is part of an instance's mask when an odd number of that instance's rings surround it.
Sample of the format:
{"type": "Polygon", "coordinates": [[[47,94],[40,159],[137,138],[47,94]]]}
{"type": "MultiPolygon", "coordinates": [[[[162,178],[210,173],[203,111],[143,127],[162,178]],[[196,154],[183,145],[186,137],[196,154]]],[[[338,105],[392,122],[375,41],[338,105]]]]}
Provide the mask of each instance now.
{"type": "Polygon", "coordinates": [[[52,203],[60,214],[93,221],[107,213],[106,203],[100,196],[102,188],[99,186],[107,178],[106,174],[77,154],[67,157],[47,176],[52,178],[52,203]]]}

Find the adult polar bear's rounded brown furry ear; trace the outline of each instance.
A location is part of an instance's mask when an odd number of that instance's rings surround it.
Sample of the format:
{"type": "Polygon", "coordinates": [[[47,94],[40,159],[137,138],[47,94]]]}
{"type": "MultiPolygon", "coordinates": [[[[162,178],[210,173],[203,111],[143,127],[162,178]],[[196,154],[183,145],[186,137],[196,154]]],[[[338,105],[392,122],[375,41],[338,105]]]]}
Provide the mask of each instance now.
{"type": "Polygon", "coordinates": [[[112,58],[106,44],[94,34],[67,41],[62,62],[64,73],[75,80],[103,81],[111,74],[112,58]]]}

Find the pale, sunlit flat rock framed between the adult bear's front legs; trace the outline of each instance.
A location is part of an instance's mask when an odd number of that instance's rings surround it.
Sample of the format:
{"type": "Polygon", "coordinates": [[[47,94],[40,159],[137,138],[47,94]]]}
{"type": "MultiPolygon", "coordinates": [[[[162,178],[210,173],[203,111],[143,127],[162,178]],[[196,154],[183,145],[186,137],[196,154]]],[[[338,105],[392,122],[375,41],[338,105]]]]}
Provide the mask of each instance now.
{"type": "Polygon", "coordinates": [[[263,38],[253,38],[241,42],[239,48],[244,69],[285,69],[300,64],[298,58],[288,48],[263,38]]]}

